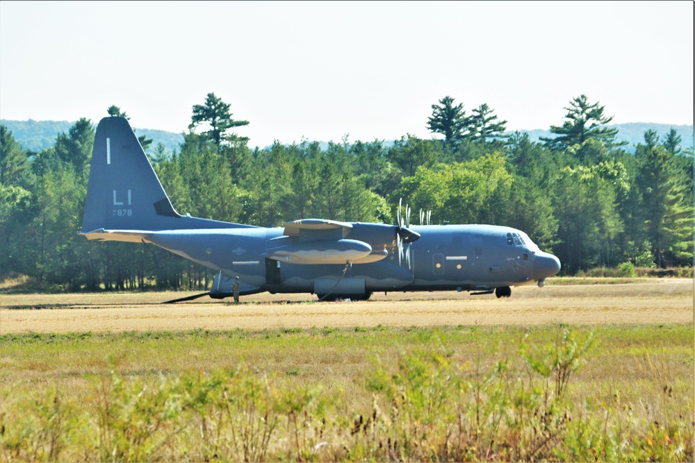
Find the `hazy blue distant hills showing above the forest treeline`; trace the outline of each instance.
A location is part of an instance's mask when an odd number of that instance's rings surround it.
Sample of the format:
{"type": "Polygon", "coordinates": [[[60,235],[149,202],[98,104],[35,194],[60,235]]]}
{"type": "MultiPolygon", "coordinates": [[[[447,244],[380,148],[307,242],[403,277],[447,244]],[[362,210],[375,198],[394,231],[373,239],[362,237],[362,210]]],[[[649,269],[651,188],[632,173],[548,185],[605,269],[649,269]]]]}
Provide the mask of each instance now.
{"type": "MultiPolygon", "coordinates": [[[[70,121],[10,121],[8,119],[0,119],[0,124],[6,126],[12,131],[15,140],[22,144],[24,149],[31,151],[41,151],[42,149],[54,146],[58,133],[67,133],[74,122],[70,121]]],[[[644,143],[644,133],[648,130],[656,131],[659,137],[667,135],[671,128],[675,128],[682,140],[681,144],[684,148],[695,149],[693,143],[694,126],[677,126],[670,124],[651,124],[648,122],[630,122],[628,124],[612,124],[608,127],[617,127],[619,130],[618,139],[628,142],[625,149],[630,152],[635,151],[635,145],[644,143]]],[[[152,138],[152,148],[161,143],[165,146],[167,153],[179,151],[181,143],[183,143],[183,135],[181,133],[172,133],[167,131],[158,131],[149,128],[135,128],[137,135],[145,135],[147,138],[152,138]]],[[[523,130],[520,132],[528,133],[533,141],[538,141],[540,137],[553,137],[550,130],[532,129],[523,130]]],[[[512,132],[507,132],[512,133],[512,132]]],[[[319,142],[321,149],[326,149],[327,142],[319,142]]],[[[393,140],[384,140],[384,146],[393,146],[393,140]]],[[[268,148],[268,146],[266,146],[268,148]]]]}

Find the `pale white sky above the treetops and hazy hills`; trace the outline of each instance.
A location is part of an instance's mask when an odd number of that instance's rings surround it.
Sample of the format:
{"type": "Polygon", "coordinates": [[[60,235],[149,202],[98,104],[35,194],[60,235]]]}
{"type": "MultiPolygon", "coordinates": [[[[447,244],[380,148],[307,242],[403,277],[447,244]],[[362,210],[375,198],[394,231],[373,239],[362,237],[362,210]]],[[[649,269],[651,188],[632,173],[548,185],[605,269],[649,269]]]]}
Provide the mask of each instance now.
{"type": "Polygon", "coordinates": [[[0,1],[0,118],[186,131],[214,92],[250,146],[430,137],[443,96],[508,130],[587,94],[614,123],[693,124],[692,1],[0,1]]]}

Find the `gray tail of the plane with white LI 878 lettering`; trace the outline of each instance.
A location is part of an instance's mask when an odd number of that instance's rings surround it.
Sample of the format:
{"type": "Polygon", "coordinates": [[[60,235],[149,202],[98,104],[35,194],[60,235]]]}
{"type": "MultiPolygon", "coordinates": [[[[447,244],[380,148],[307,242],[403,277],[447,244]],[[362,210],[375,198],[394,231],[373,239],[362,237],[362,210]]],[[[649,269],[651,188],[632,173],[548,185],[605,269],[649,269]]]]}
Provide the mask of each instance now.
{"type": "Polygon", "coordinates": [[[181,216],[128,121],[99,121],[81,230],[88,239],[140,242],[157,230],[237,227],[243,225],[181,216]]]}

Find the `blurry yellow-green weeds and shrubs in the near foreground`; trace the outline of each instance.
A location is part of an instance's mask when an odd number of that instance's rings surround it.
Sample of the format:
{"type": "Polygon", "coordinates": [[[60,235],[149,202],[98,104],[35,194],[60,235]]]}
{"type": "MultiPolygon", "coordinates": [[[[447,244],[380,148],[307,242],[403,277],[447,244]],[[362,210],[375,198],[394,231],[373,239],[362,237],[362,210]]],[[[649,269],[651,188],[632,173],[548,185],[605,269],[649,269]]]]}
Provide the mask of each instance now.
{"type": "Polygon", "coordinates": [[[426,334],[356,379],[366,408],[244,364],[145,382],[110,360],[85,403],[17,385],[0,403],[0,460],[692,461],[692,387],[648,355],[656,393],[635,402],[618,389],[573,391],[591,332],[527,335],[505,355],[457,352],[426,334]]]}

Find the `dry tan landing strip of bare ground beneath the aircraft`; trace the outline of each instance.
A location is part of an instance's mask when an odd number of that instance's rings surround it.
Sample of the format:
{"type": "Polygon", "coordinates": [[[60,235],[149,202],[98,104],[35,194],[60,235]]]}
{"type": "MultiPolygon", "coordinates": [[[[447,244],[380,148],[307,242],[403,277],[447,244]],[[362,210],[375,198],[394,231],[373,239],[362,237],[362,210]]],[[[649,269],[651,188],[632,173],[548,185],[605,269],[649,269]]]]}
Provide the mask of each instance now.
{"type": "Polygon", "coordinates": [[[130,330],[233,330],[325,326],[694,323],[692,280],[514,288],[511,298],[468,293],[375,294],[318,303],[310,294],[258,294],[234,305],[195,293],[17,294],[0,301],[0,334],[130,330]]]}

